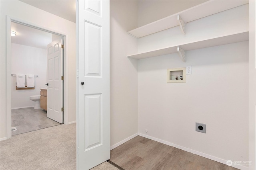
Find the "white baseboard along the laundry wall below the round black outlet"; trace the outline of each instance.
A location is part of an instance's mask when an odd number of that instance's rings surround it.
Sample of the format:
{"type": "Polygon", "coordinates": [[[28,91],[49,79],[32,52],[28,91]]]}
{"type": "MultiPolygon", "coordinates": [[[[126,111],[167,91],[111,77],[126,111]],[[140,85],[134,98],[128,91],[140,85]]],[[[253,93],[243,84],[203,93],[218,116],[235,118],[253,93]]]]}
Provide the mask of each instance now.
{"type": "MultiPolygon", "coordinates": [[[[185,150],[187,152],[190,152],[190,153],[193,153],[193,154],[197,154],[199,156],[203,156],[204,158],[208,158],[208,159],[211,159],[211,160],[214,160],[214,161],[217,161],[217,162],[220,162],[222,164],[225,164],[227,163],[227,160],[224,160],[222,158],[217,158],[215,156],[212,156],[212,155],[209,155],[209,154],[205,154],[205,153],[202,153],[202,152],[198,152],[196,150],[193,150],[193,149],[189,149],[189,148],[186,148],[186,147],[182,147],[180,145],[176,145],[174,143],[170,143],[170,142],[167,142],[167,141],[164,141],[162,139],[158,139],[158,138],[155,138],[155,137],[151,137],[151,136],[148,136],[148,135],[144,135],[142,133],[138,133],[139,136],[142,136],[142,137],[145,137],[145,138],[148,138],[148,139],[151,139],[153,141],[157,141],[157,142],[160,142],[160,143],[163,143],[163,144],[166,144],[166,145],[169,145],[169,146],[172,146],[172,147],[175,147],[175,148],[178,148],[178,149],[182,149],[182,150],[185,150]]],[[[242,166],[242,165],[237,165],[237,164],[232,164],[232,167],[234,168],[238,168],[240,170],[248,170],[248,167],[246,166],[242,166]]]]}

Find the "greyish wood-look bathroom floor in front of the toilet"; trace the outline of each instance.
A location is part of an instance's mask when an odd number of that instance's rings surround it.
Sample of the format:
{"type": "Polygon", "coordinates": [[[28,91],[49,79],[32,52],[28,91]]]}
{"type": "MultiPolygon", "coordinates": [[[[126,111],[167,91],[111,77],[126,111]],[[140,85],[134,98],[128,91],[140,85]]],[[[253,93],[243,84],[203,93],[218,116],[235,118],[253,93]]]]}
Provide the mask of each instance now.
{"type": "Polygon", "coordinates": [[[46,115],[46,111],[42,109],[34,109],[34,107],[12,109],[12,127],[17,128],[17,131],[12,131],[12,135],[56,125],[60,125],[60,123],[49,119],[46,115]]]}

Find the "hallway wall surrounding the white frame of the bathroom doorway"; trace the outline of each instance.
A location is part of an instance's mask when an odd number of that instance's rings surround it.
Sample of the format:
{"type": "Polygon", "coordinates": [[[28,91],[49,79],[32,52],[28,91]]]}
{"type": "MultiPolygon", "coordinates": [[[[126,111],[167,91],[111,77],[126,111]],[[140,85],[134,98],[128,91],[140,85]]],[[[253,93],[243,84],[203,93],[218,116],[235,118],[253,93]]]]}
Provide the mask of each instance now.
{"type": "Polygon", "coordinates": [[[68,88],[68,105],[65,106],[66,110],[68,110],[68,122],[76,121],[76,23],[65,20],[58,16],[54,16],[48,12],[25,4],[19,0],[1,0],[1,27],[0,27],[0,35],[1,35],[1,49],[0,49],[0,139],[4,139],[7,134],[7,112],[8,108],[7,104],[7,67],[6,67],[6,16],[10,16],[12,18],[16,18],[18,20],[25,21],[27,23],[32,23],[33,25],[37,25],[48,29],[50,31],[54,31],[57,33],[62,33],[66,35],[66,80],[68,83],[65,88],[68,88]]]}

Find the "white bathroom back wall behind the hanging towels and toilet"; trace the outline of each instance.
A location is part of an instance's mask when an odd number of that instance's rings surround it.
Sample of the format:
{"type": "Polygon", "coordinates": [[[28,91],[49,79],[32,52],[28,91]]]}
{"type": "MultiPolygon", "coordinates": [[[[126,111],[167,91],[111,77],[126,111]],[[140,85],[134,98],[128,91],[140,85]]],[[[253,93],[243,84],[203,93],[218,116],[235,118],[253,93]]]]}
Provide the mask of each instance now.
{"type": "Polygon", "coordinates": [[[36,47],[12,43],[12,74],[34,74],[34,90],[16,90],[16,76],[12,76],[12,109],[34,106],[29,97],[40,95],[40,88],[46,88],[47,51],[36,47]]]}

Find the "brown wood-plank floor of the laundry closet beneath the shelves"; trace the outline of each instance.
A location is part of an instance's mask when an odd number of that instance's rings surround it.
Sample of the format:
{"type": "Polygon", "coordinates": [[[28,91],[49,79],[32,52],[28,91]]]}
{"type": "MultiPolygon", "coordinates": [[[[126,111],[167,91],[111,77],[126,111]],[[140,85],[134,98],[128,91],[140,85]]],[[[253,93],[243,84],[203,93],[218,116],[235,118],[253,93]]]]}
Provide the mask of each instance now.
{"type": "Polygon", "coordinates": [[[125,170],[237,170],[141,136],[112,149],[110,155],[125,170]]]}

